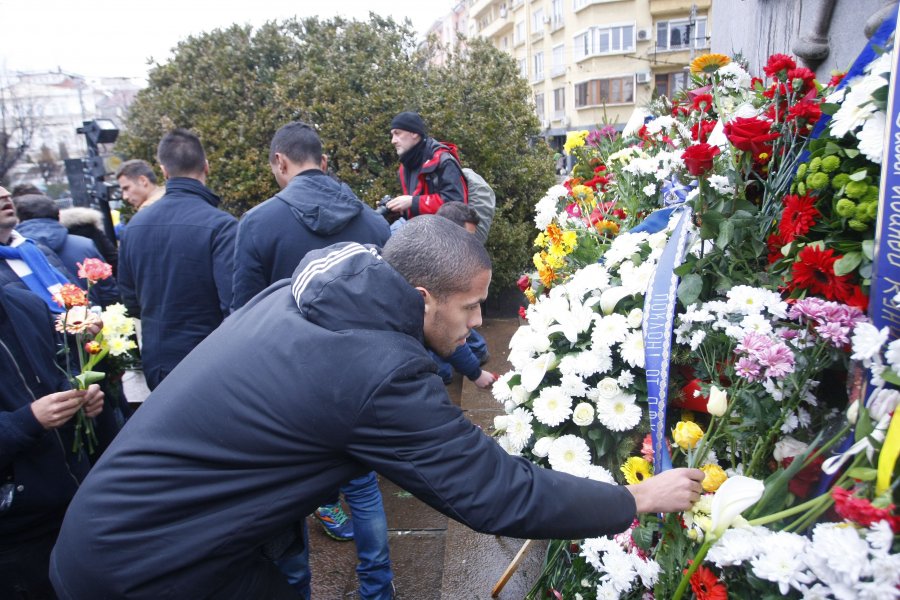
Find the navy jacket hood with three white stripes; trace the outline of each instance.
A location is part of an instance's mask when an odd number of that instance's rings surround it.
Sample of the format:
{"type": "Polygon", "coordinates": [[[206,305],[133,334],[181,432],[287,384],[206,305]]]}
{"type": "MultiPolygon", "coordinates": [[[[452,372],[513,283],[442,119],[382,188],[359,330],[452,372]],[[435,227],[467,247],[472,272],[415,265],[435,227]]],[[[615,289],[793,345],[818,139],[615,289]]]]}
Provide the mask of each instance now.
{"type": "Polygon", "coordinates": [[[291,277],[307,321],[329,331],[377,329],[424,340],[425,301],[372,245],[344,242],[313,250],[291,277]]]}

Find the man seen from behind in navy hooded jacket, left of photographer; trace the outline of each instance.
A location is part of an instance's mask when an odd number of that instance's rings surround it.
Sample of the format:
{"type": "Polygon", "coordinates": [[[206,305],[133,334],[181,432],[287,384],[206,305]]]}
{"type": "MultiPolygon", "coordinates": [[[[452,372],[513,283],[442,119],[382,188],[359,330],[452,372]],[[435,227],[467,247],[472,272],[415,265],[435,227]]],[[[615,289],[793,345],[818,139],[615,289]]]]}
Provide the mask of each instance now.
{"type": "Polygon", "coordinates": [[[281,191],[248,211],[238,224],[234,309],[290,277],[310,250],[337,242],[383,246],[391,235],[387,221],[347,184],[326,175],[322,142],[306,123],[294,121],[275,133],[269,165],[281,191]]]}

